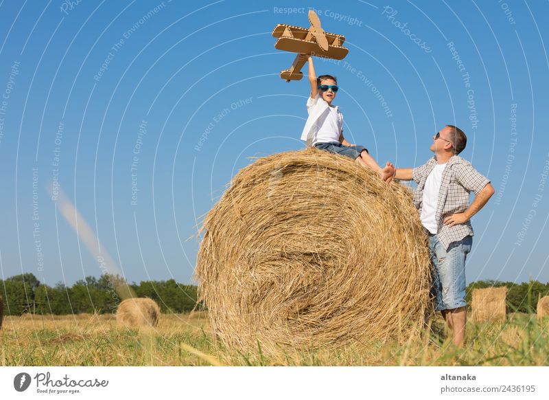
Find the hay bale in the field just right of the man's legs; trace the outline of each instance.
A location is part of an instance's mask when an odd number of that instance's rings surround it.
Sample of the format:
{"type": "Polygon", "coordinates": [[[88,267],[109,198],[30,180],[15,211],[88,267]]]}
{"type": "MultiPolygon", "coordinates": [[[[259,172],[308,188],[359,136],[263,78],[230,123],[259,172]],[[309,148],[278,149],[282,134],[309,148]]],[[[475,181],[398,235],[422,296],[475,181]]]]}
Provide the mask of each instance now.
{"type": "Polygon", "coordinates": [[[506,287],[473,289],[471,302],[472,318],[475,322],[504,322],[506,319],[506,287]]]}

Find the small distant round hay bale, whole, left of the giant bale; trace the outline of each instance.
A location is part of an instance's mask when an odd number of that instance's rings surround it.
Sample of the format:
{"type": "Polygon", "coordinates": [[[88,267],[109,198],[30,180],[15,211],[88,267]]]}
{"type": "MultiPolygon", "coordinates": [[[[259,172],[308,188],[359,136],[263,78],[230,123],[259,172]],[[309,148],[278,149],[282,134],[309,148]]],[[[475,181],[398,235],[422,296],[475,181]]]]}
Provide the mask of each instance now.
{"type": "Polygon", "coordinates": [[[130,328],[156,326],[160,308],[150,298],[128,298],[120,303],[116,312],[116,322],[130,328]]]}

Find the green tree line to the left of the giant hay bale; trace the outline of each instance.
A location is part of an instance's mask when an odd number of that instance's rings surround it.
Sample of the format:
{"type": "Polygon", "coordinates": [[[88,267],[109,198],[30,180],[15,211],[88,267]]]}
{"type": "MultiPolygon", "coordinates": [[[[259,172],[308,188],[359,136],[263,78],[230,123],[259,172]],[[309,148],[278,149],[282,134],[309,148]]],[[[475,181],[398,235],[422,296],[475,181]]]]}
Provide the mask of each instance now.
{"type": "MultiPolygon", "coordinates": [[[[100,278],[86,276],[71,287],[62,282],[52,287],[27,273],[0,280],[0,296],[4,315],[113,313],[121,302],[120,288],[124,285],[123,278],[105,274],[100,278]]],[[[156,301],[163,313],[189,312],[197,304],[196,285],[181,285],[174,279],[146,280],[128,286],[137,297],[156,301]]]]}

